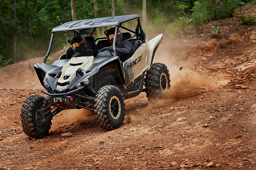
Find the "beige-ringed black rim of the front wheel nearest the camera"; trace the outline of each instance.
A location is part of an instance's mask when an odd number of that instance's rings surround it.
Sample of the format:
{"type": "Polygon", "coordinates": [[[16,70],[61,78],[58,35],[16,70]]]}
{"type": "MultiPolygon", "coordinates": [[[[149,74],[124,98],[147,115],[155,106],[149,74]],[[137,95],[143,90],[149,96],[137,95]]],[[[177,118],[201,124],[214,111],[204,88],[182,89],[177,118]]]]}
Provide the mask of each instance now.
{"type": "Polygon", "coordinates": [[[118,97],[113,96],[109,101],[109,112],[113,119],[118,119],[121,115],[121,103],[118,97]]]}

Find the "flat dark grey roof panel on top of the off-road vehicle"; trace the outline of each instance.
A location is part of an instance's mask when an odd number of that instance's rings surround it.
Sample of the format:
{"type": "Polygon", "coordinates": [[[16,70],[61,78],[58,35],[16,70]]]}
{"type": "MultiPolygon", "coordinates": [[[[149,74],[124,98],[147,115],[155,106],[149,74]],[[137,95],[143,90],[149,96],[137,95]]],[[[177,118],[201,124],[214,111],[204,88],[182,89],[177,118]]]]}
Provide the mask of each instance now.
{"type": "Polygon", "coordinates": [[[135,19],[135,18],[140,18],[140,17],[137,14],[132,14],[132,15],[115,16],[115,17],[103,17],[103,18],[70,21],[53,28],[52,32],[68,31],[68,30],[84,29],[84,28],[95,28],[95,27],[103,27],[103,26],[120,26],[121,23],[129,21],[131,19],[135,19]]]}

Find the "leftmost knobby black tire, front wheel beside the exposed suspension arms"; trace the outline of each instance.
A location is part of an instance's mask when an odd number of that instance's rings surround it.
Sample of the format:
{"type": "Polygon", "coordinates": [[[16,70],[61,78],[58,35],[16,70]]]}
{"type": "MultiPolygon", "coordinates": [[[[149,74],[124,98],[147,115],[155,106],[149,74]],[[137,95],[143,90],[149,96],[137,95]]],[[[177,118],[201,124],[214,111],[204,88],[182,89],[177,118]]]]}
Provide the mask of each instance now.
{"type": "MultiPolygon", "coordinates": [[[[21,126],[24,133],[31,137],[44,137],[51,129],[52,119],[43,124],[36,123],[36,111],[43,107],[44,97],[33,95],[28,97],[21,108],[21,126]]],[[[46,109],[46,112],[51,108],[46,109]]]]}

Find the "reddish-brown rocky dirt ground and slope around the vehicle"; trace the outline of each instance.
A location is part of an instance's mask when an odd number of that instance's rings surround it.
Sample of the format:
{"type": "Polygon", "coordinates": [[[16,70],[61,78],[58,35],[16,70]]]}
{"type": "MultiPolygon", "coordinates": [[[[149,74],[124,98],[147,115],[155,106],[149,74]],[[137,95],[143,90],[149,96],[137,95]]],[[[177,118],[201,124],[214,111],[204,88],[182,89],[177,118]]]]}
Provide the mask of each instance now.
{"type": "Polygon", "coordinates": [[[90,111],[66,110],[48,136],[27,137],[20,108],[42,95],[32,66],[43,57],[0,68],[0,169],[256,169],[256,27],[236,17],[206,25],[222,33],[161,44],[154,62],[170,70],[169,97],[125,100],[124,124],[112,131],[90,111]]]}

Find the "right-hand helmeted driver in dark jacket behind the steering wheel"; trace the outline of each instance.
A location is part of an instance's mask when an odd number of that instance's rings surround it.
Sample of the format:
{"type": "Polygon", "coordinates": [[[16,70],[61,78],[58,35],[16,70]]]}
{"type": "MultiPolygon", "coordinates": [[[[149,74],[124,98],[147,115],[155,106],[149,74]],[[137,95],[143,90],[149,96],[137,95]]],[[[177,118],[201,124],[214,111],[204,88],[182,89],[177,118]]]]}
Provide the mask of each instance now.
{"type": "MultiPolygon", "coordinates": [[[[113,27],[104,32],[111,45],[113,45],[115,29],[116,28],[113,27]]],[[[132,56],[132,43],[130,41],[123,41],[122,38],[122,32],[118,29],[116,35],[116,52],[121,62],[125,62],[132,56]]],[[[113,46],[109,46],[109,51],[113,52],[113,46]]]]}

